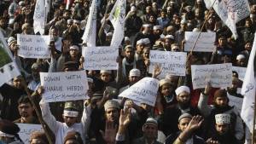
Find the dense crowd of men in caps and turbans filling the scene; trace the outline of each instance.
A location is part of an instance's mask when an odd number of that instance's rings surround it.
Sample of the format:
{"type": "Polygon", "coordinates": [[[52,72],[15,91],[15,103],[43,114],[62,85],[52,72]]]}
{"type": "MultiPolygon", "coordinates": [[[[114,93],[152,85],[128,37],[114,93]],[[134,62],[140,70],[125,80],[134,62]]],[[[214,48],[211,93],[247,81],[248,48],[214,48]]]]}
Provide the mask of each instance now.
{"type": "MultiPolygon", "coordinates": [[[[17,54],[17,34],[38,34],[32,27],[36,0],[0,1],[0,31],[22,73],[0,87],[1,144],[22,143],[18,135],[20,128],[15,123],[43,123],[46,131],[33,132],[31,144],[47,144],[49,140],[55,144],[241,144],[252,141],[240,112],[229,105],[228,95],[243,97],[239,91],[242,85],[239,73],[233,72],[232,85],[227,89],[212,88],[211,84],[205,89],[193,89],[191,65],[232,63],[247,67],[256,29],[255,1],[249,1],[249,16],[236,24],[239,37],[235,39],[203,0],[127,0],[125,37],[117,58],[119,69],[86,71],[89,100],[41,101],[44,87],[40,84],[39,72],[84,70],[81,37],[91,2],[52,0],[44,32],[52,39],[51,58],[36,60],[17,54]],[[216,49],[212,53],[188,53],[186,76],[167,74],[159,78],[160,66],[154,67],[153,74],[148,73],[150,50],[182,52],[186,43],[184,32],[201,30],[216,32],[216,49]],[[145,77],[160,80],[154,107],[118,97],[145,77]]],[[[113,26],[108,14],[115,0],[96,2],[96,46],[109,46],[113,26]]]]}

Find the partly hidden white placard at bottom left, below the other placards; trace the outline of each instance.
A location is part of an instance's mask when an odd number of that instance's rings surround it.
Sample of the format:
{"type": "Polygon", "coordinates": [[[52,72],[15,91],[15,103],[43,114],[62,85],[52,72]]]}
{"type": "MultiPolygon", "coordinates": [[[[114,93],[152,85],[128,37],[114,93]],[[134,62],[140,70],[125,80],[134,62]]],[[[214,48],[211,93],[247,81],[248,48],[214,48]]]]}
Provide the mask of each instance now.
{"type": "Polygon", "coordinates": [[[33,131],[44,131],[41,124],[18,124],[20,139],[24,144],[29,144],[29,138],[33,131]]]}

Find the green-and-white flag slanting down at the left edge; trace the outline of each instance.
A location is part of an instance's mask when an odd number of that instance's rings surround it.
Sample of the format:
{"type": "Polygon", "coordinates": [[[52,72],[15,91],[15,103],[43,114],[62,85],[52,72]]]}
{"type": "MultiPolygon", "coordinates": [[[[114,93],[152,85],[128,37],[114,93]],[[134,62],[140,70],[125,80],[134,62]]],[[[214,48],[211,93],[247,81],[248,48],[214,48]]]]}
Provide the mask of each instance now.
{"type": "Polygon", "coordinates": [[[0,86],[19,75],[18,66],[16,66],[3,33],[0,31],[0,86]]]}

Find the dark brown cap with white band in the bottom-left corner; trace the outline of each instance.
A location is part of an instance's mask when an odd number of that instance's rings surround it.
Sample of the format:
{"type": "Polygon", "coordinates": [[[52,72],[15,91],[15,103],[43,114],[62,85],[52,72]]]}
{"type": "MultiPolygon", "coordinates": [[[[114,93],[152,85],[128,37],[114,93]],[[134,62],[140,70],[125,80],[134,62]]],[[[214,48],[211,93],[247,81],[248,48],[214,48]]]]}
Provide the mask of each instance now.
{"type": "Polygon", "coordinates": [[[15,137],[20,131],[17,124],[7,120],[0,120],[0,137],[15,137]]]}

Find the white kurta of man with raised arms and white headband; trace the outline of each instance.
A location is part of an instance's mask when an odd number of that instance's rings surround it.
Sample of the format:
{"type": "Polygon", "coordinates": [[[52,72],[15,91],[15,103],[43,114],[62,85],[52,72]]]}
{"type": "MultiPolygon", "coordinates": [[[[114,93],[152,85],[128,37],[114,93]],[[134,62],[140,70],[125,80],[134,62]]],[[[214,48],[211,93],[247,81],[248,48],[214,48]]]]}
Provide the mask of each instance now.
{"type": "Polygon", "coordinates": [[[90,125],[91,107],[84,107],[81,123],[73,124],[71,127],[68,127],[66,123],[56,121],[55,117],[49,110],[49,103],[40,101],[40,107],[44,121],[46,124],[48,124],[49,129],[55,133],[55,144],[63,144],[67,132],[72,130],[79,132],[85,143],[85,136],[87,135],[87,131],[90,125]]]}

